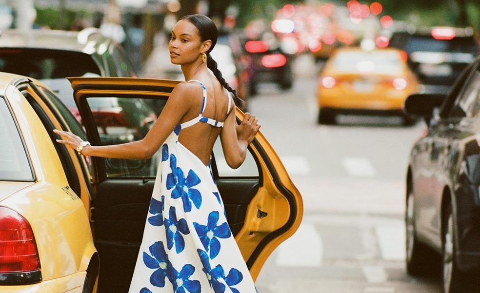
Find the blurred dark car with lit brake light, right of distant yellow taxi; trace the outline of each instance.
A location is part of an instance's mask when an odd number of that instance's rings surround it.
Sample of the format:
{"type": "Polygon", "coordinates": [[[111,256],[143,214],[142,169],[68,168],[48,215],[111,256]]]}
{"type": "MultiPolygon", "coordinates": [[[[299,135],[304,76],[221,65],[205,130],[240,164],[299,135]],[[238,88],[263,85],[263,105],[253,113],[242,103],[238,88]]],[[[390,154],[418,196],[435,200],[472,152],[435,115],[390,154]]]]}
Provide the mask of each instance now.
{"type": "Polygon", "coordinates": [[[396,32],[390,46],[408,54],[408,64],[424,92],[446,94],[461,71],[479,53],[472,28],[418,28],[396,32]]]}

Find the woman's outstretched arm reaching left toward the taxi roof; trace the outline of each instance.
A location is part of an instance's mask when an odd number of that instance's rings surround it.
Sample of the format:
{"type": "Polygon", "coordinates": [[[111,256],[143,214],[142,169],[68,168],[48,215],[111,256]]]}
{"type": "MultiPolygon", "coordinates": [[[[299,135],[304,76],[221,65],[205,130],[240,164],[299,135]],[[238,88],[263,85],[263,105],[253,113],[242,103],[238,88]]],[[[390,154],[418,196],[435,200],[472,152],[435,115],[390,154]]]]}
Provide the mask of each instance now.
{"type": "MultiPolygon", "coordinates": [[[[200,87],[193,83],[179,83],[165,103],[160,117],[155,121],[146,136],[138,141],[132,141],[116,145],[85,146],[81,154],[85,156],[101,156],[123,159],[147,159],[152,157],[160,148],[165,139],[173,132],[180,123],[180,119],[188,112],[191,106],[189,96],[200,95],[200,87]]],[[[76,149],[82,141],[80,137],[71,132],[55,129],[54,132],[62,139],[57,142],[67,147],[76,149]]]]}

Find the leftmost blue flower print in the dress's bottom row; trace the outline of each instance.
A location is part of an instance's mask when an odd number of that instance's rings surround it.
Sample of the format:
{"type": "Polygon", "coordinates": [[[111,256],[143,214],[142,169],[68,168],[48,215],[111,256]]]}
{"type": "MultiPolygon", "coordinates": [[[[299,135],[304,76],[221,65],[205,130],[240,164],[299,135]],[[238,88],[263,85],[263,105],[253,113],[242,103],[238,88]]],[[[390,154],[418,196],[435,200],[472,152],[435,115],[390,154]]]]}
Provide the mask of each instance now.
{"type": "MultiPolygon", "coordinates": [[[[149,269],[157,269],[150,276],[150,283],[155,287],[163,288],[165,287],[165,276],[167,275],[167,270],[170,266],[168,256],[165,253],[165,248],[163,247],[163,242],[155,242],[149,247],[149,250],[152,256],[150,256],[146,252],[143,252],[143,263],[149,269]]],[[[144,291],[144,289],[146,288],[140,290],[140,293],[149,292],[144,291]]]]}

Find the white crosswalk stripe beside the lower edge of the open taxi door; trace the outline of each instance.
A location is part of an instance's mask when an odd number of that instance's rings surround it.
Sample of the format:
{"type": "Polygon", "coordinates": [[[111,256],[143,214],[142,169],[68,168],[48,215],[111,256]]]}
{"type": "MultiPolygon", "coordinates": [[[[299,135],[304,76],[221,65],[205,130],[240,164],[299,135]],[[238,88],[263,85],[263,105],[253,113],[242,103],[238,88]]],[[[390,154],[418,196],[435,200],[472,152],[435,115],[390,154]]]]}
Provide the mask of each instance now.
{"type": "Polygon", "coordinates": [[[276,264],[279,267],[319,267],[323,243],[315,226],[302,223],[292,237],[280,244],[276,264]]]}

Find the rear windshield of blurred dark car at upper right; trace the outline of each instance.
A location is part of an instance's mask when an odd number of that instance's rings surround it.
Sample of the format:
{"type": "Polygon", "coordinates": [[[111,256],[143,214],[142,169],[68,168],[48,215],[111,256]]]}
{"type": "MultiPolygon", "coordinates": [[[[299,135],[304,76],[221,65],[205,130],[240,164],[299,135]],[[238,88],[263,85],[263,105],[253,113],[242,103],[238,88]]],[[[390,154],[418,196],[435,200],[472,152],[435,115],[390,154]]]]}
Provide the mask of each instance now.
{"type": "Polygon", "coordinates": [[[408,53],[412,52],[477,52],[477,45],[473,38],[453,38],[450,40],[434,39],[431,36],[411,36],[404,47],[408,53]]]}

